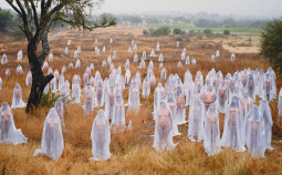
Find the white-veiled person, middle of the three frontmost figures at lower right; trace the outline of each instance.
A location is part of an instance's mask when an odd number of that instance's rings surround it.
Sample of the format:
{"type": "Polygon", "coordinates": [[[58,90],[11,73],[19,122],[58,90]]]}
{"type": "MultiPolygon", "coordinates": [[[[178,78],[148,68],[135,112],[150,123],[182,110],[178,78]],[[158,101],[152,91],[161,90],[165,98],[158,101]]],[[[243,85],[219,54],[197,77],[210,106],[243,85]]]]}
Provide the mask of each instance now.
{"type": "Polygon", "coordinates": [[[241,103],[239,97],[233,96],[226,113],[224,130],[221,137],[221,146],[231,147],[237,152],[243,152],[243,128],[241,128],[241,122],[243,122],[243,112],[241,110],[241,103]]]}

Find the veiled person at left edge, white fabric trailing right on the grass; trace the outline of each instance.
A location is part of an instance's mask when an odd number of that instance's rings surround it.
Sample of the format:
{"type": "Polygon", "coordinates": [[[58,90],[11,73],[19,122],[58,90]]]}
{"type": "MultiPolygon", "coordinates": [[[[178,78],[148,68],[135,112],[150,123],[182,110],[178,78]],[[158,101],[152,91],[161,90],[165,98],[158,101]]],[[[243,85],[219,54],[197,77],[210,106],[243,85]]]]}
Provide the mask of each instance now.
{"type": "Polygon", "coordinates": [[[28,138],[22,134],[20,128],[15,128],[12,110],[4,102],[0,110],[0,144],[21,144],[27,143],[28,138]]]}

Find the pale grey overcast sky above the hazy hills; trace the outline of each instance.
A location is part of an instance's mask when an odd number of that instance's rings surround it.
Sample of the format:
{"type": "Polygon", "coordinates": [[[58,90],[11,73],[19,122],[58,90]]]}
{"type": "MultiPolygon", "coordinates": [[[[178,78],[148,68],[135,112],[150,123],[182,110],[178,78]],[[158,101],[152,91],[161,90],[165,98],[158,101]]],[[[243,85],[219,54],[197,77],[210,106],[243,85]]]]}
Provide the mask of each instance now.
{"type": "MultiPolygon", "coordinates": [[[[236,16],[282,17],[282,0],[104,0],[98,12],[208,12],[236,16]]],[[[0,0],[3,9],[9,8],[0,0]]]]}

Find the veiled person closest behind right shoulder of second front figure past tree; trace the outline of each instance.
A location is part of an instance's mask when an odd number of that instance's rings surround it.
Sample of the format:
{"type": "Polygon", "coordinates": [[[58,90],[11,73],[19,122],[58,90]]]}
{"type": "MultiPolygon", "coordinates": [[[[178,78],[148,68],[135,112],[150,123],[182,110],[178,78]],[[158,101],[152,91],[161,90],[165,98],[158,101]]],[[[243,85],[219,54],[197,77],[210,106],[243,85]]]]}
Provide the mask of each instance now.
{"type": "Polygon", "coordinates": [[[115,95],[112,126],[114,128],[125,127],[125,107],[124,107],[123,95],[121,92],[116,92],[116,95],[115,95]]]}

